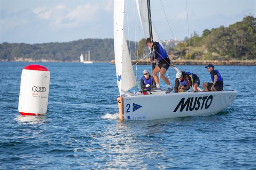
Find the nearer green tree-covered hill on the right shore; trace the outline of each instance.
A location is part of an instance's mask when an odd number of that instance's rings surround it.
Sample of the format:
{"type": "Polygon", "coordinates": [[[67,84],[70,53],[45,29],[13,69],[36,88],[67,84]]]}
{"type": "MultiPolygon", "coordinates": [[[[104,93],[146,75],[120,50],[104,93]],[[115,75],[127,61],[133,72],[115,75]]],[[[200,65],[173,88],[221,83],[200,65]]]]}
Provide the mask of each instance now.
{"type": "Polygon", "coordinates": [[[206,29],[202,36],[194,33],[172,50],[180,51],[182,59],[255,60],[256,18],[247,16],[229,27],[206,29]]]}

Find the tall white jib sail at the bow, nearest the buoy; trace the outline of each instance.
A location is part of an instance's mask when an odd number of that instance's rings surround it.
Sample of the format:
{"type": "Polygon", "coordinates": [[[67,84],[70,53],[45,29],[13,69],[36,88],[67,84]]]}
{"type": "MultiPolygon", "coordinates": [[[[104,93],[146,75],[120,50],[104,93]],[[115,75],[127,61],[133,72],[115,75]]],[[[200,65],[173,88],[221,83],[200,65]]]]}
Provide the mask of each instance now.
{"type": "Polygon", "coordinates": [[[122,95],[137,84],[124,34],[124,0],[114,1],[114,49],[117,86],[122,95]]]}

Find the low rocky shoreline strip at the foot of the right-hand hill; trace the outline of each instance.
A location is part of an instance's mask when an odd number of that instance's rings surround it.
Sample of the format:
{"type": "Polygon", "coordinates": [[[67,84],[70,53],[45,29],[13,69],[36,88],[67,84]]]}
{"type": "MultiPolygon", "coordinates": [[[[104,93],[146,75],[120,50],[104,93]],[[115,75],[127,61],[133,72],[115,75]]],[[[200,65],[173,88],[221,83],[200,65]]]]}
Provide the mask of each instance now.
{"type": "MultiPolygon", "coordinates": [[[[135,64],[136,60],[132,60],[132,64],[135,64]]],[[[230,61],[218,61],[218,60],[172,60],[174,65],[256,65],[256,60],[230,60],[230,61]]],[[[115,64],[115,60],[111,60],[111,64],[115,64]]],[[[150,64],[148,59],[141,60],[138,65],[150,64]]]]}

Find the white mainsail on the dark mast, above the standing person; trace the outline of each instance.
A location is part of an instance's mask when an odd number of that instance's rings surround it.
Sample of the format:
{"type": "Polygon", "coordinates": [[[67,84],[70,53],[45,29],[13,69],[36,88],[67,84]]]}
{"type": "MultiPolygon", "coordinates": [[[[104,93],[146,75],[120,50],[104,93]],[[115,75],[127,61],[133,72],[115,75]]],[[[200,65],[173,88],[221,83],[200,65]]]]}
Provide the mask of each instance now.
{"type": "MultiPolygon", "coordinates": [[[[138,9],[138,13],[139,13],[139,17],[140,17],[140,23],[141,23],[143,32],[145,34],[145,38],[148,38],[149,37],[149,24],[148,24],[149,21],[148,21],[147,0],[136,0],[136,6],[137,6],[137,9],[138,9]]],[[[156,33],[156,29],[155,29],[152,21],[151,21],[151,23],[152,23],[153,40],[159,42],[160,45],[162,47],[164,47],[162,42],[160,41],[160,38],[158,37],[158,34],[156,33]]]]}

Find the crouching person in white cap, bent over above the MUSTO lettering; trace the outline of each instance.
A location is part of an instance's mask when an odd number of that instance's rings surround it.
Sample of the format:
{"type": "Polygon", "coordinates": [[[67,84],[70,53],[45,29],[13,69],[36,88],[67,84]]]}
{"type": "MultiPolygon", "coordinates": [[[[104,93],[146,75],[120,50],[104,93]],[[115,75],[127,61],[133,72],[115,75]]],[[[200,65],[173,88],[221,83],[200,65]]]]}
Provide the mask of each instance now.
{"type": "Polygon", "coordinates": [[[199,77],[196,74],[188,71],[181,71],[181,73],[182,75],[180,75],[178,72],[176,74],[174,92],[182,92],[183,90],[187,91],[190,89],[190,86],[193,86],[194,91],[198,92],[197,87],[200,85],[199,77]]]}

